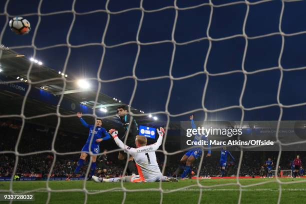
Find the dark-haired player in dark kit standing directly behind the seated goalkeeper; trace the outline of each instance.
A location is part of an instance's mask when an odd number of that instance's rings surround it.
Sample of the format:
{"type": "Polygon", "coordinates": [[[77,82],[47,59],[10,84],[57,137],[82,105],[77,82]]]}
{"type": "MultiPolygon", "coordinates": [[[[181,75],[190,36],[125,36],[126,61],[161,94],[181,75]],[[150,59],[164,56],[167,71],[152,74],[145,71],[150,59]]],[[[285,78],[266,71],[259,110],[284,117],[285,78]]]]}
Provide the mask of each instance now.
{"type": "MultiPolygon", "coordinates": [[[[128,107],[127,105],[120,105],[117,107],[117,113],[122,121],[122,125],[124,128],[124,135],[120,137],[120,140],[124,142],[125,137],[126,138],[126,145],[129,147],[136,147],[135,146],[135,138],[136,135],[139,134],[139,128],[136,120],[133,118],[132,120],[130,119],[130,115],[128,114],[128,107]],[[129,131],[128,130],[129,127],[129,131]]],[[[126,153],[124,151],[119,151],[118,154],[118,159],[123,160],[126,157],[126,153]]],[[[136,173],[136,167],[133,161],[133,157],[129,156],[128,158],[128,174],[134,174],[136,173]]]]}

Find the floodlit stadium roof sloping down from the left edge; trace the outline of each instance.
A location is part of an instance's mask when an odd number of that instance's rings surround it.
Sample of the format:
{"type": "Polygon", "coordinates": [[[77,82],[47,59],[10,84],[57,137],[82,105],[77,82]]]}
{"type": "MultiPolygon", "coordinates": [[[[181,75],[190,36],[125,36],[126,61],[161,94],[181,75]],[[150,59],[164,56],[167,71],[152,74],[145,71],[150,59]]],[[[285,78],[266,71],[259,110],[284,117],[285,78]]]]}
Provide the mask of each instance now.
{"type": "MultiPolygon", "coordinates": [[[[16,77],[19,77],[19,79],[23,78],[23,81],[27,79],[26,75],[31,61],[24,55],[18,54],[9,49],[3,50],[0,62],[2,73],[10,77],[10,80],[14,80],[16,77]]],[[[38,63],[33,62],[29,77],[35,88],[43,88],[54,95],[61,94],[64,83],[63,80],[66,78],[68,81],[66,82],[63,92],[66,98],[76,102],[84,102],[84,105],[91,108],[94,105],[96,97],[95,89],[80,88],[75,79],[71,79],[69,76],[64,77],[59,74],[58,71],[43,64],[39,65],[38,63]]],[[[116,107],[120,104],[123,103],[121,101],[118,102],[117,99],[113,99],[113,97],[99,93],[96,107],[107,108],[107,114],[111,115],[116,112],[116,107]]],[[[131,107],[131,109],[134,113],[141,113],[140,110],[133,107],[131,107]]]]}

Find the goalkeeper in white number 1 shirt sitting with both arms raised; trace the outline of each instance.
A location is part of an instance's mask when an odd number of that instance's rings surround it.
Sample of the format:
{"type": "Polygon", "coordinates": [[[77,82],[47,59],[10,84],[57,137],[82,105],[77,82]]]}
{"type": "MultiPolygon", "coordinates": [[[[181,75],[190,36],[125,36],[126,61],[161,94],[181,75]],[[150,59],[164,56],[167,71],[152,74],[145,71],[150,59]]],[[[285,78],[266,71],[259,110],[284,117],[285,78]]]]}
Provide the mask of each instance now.
{"type": "Polygon", "coordinates": [[[115,140],[118,147],[124,149],[125,152],[128,152],[135,159],[138,175],[127,175],[123,177],[115,178],[101,178],[97,176],[92,176],[92,179],[95,182],[154,182],[154,181],[177,181],[176,178],[167,177],[162,175],[160,172],[159,166],[156,161],[155,150],[158,149],[162,142],[162,137],[164,134],[164,129],[160,127],[160,130],[157,129],[158,139],[157,142],[151,145],[146,145],[146,137],[137,135],[135,139],[136,148],[129,147],[124,145],[124,143],[118,138],[118,131],[115,129],[110,129],[109,133],[115,140]]]}

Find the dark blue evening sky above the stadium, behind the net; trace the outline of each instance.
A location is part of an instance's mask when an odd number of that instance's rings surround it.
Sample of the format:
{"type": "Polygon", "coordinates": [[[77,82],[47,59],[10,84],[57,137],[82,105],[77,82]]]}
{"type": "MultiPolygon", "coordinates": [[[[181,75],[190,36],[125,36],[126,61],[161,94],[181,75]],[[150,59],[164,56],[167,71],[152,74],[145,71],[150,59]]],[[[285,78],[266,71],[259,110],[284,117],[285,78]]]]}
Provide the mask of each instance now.
{"type": "MultiPolygon", "coordinates": [[[[220,5],[236,0],[212,0],[220,5]]],[[[4,26],[3,15],[6,0],[0,0],[0,27],[5,29],[1,43],[8,47],[30,45],[34,29],[37,25],[36,14],[26,16],[24,13],[37,13],[38,0],[9,0],[7,12],[12,16],[23,16],[31,23],[32,30],[25,36],[15,35],[8,25],[4,26]]],[[[41,13],[71,10],[72,0],[43,0],[41,13]]],[[[76,0],[74,9],[82,13],[96,9],[105,9],[105,0],[86,1],[76,0]]],[[[180,8],[198,5],[208,0],[177,0],[180,8]]],[[[250,0],[250,2],[257,2],[250,0]]],[[[139,0],[110,0],[108,9],[119,11],[127,8],[139,7],[139,0]]],[[[172,0],[143,0],[146,10],[157,9],[173,5],[172,0]]],[[[306,2],[285,2],[281,29],[284,33],[294,33],[306,30],[306,2]]],[[[209,35],[212,38],[228,37],[242,33],[242,25],[246,12],[246,4],[240,3],[230,6],[214,7],[209,35]]],[[[250,5],[245,32],[249,37],[278,32],[281,1],[272,0],[250,5]]],[[[177,43],[206,37],[210,15],[210,6],[204,5],[193,9],[179,10],[174,39],[177,43]]],[[[155,42],[170,40],[174,22],[175,10],[163,9],[157,12],[144,12],[142,26],[139,32],[140,42],[155,42]]],[[[9,17],[9,18],[11,18],[9,17]]],[[[131,10],[119,14],[110,14],[110,21],[105,35],[105,44],[115,45],[127,41],[135,41],[140,10],[131,10]]],[[[43,48],[55,44],[66,43],[66,35],[73,18],[71,12],[41,16],[34,44],[43,48]]],[[[75,22],[69,36],[69,43],[81,45],[84,43],[99,43],[102,39],[107,14],[95,12],[76,15],[75,22]]],[[[204,70],[204,61],[208,50],[208,40],[199,40],[186,45],[176,45],[171,75],[182,77],[204,70]]],[[[220,73],[232,70],[241,70],[242,56],[245,46],[243,37],[212,41],[207,61],[209,73],[220,73]]],[[[248,39],[248,46],[244,62],[246,71],[255,71],[262,68],[278,66],[278,57],[281,49],[281,35],[248,39]]],[[[15,48],[15,51],[30,58],[32,48],[15,48]]],[[[37,50],[36,56],[45,65],[57,71],[63,69],[67,55],[67,47],[60,46],[37,50]]],[[[139,79],[169,75],[169,67],[173,44],[171,42],[153,45],[141,45],[140,54],[136,63],[135,74],[139,79]]],[[[96,77],[97,69],[102,56],[102,46],[83,46],[71,48],[66,73],[69,78],[96,77]]],[[[101,79],[114,79],[122,76],[131,76],[132,67],[137,52],[137,44],[106,48],[105,58],[100,72],[101,79]]],[[[281,57],[283,68],[306,66],[306,33],[284,37],[284,49],[281,57]]],[[[277,103],[276,95],[280,78],[279,69],[263,71],[247,75],[247,83],[242,98],[244,107],[254,107],[277,103]]],[[[209,76],[205,95],[205,107],[216,109],[230,105],[239,105],[239,96],[244,76],[241,72],[209,76]]],[[[181,80],[173,81],[173,88],[168,105],[172,114],[178,114],[196,108],[201,108],[201,98],[205,81],[205,74],[199,74],[181,80]]],[[[96,85],[96,81],[91,81],[96,85]]],[[[129,102],[134,80],[132,78],[105,82],[101,84],[101,92],[116,97],[125,103],[129,102]]],[[[164,111],[166,98],[170,87],[170,79],[138,81],[132,106],[145,113],[164,111]]],[[[280,90],[280,102],[284,105],[306,102],[306,69],[284,71],[280,90]]],[[[196,119],[203,118],[203,111],[195,113],[196,119]]],[[[244,120],[277,120],[279,107],[273,106],[257,110],[245,111],[244,120]]],[[[160,115],[164,118],[164,115],[160,115]]],[[[208,113],[210,120],[240,120],[241,110],[230,110],[208,113]]],[[[171,120],[185,120],[187,115],[171,118],[171,120]]],[[[305,119],[306,107],[298,106],[283,109],[283,120],[305,119]]]]}

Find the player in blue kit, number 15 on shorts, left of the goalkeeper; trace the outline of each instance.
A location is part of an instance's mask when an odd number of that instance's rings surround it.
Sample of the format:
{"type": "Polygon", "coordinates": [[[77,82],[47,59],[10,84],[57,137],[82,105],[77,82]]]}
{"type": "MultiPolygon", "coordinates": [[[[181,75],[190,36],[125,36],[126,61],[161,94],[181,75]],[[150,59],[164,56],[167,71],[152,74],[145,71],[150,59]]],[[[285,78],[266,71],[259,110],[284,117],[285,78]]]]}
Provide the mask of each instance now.
{"type": "MultiPolygon", "coordinates": [[[[74,170],[74,173],[78,173],[79,169],[81,168],[81,166],[83,165],[87,155],[88,155],[88,152],[92,152],[92,154],[98,154],[100,152],[100,147],[99,147],[99,144],[102,140],[106,140],[106,139],[109,139],[110,138],[110,135],[109,133],[106,131],[105,128],[103,128],[101,125],[102,125],[102,120],[101,119],[96,119],[95,120],[95,129],[94,128],[94,125],[90,125],[90,124],[87,124],[85,122],[85,120],[82,118],[82,113],[81,112],[77,112],[77,117],[79,117],[81,123],[89,128],[89,135],[88,135],[88,138],[87,138],[87,141],[85,143],[85,145],[83,146],[82,150],[81,150],[81,155],[79,157],[79,160],[77,161],[77,166],[74,170]],[[92,138],[92,141],[91,141],[91,146],[89,146],[89,142],[91,140],[91,137],[92,137],[92,134],[93,134],[93,138],[92,138]],[[103,137],[102,137],[103,135],[103,137]],[[90,149],[90,151],[89,151],[90,149]]],[[[96,166],[96,163],[95,163],[95,160],[96,160],[96,155],[92,155],[91,156],[91,173],[90,173],[90,177],[89,179],[91,178],[92,175],[94,175],[94,171],[95,171],[95,166],[96,166]]]]}

